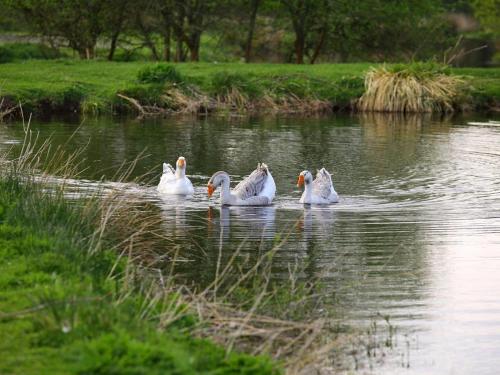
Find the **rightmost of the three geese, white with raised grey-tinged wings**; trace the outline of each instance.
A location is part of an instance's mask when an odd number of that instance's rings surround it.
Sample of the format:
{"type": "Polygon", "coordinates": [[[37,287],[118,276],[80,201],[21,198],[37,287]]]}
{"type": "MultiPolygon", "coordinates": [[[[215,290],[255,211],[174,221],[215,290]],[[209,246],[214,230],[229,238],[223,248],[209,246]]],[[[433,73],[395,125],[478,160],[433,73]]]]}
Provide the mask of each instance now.
{"type": "Polygon", "coordinates": [[[339,196],[333,188],[332,176],[325,168],[321,168],[318,171],[314,181],[311,172],[300,172],[297,186],[304,186],[304,192],[299,201],[300,203],[330,204],[339,201],[339,196]]]}

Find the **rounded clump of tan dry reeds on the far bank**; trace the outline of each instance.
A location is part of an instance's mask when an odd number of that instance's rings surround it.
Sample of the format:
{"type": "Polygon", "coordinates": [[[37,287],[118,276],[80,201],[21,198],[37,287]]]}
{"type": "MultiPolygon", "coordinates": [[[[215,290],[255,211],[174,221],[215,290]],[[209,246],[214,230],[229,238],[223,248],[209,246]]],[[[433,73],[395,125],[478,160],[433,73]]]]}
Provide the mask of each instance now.
{"type": "Polygon", "coordinates": [[[465,81],[435,63],[372,68],[365,76],[360,111],[440,112],[459,109],[467,96],[465,81]]]}

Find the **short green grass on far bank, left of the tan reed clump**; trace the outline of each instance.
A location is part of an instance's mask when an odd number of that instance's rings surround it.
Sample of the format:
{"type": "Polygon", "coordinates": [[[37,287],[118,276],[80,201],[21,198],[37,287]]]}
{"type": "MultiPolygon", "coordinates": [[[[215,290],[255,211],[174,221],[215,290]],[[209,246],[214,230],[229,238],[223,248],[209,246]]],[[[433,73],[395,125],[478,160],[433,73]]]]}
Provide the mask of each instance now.
{"type": "MultiPolygon", "coordinates": [[[[105,62],[79,60],[30,60],[0,65],[0,96],[13,102],[21,101],[26,111],[54,112],[78,111],[112,113],[118,105],[127,104],[117,97],[118,92],[139,96],[136,99],[146,104],[159,100],[162,92],[158,87],[140,83],[138,73],[152,63],[105,62]]],[[[220,72],[231,72],[244,77],[269,80],[282,76],[284,79],[298,75],[309,81],[317,79],[318,91],[325,89],[325,83],[338,82],[344,78],[359,78],[357,91],[342,93],[339,90],[325,93],[344,97],[339,102],[348,103],[351,97],[362,93],[362,73],[368,64],[349,65],[275,65],[275,64],[176,64],[175,68],[190,83],[204,92],[212,89],[213,77],[220,72]]],[[[293,80],[291,80],[293,85],[293,80]]],[[[293,87],[291,88],[293,89],[293,87]]],[[[349,90],[350,91],[350,90],[349,90]]]]}

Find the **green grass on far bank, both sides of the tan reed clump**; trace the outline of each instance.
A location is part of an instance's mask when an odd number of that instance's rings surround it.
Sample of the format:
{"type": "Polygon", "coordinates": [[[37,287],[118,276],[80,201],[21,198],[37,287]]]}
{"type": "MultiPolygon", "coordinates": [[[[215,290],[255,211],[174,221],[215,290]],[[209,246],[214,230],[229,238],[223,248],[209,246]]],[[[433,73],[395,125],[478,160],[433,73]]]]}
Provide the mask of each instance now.
{"type": "MultiPolygon", "coordinates": [[[[299,99],[314,97],[328,101],[334,108],[345,108],[363,94],[363,77],[372,65],[184,63],[175,65],[175,69],[187,84],[207,95],[214,95],[214,87],[224,83],[221,74],[226,74],[232,77],[232,82],[250,88],[249,97],[261,92],[281,97],[293,94],[299,99]]],[[[154,84],[151,88],[151,84],[138,79],[139,72],[150,66],[154,64],[79,60],[0,64],[0,95],[13,103],[23,102],[26,111],[35,114],[80,109],[111,113],[127,108],[126,103],[117,98],[118,92],[149,95],[147,103],[161,101],[162,86],[154,84]]],[[[467,76],[472,83],[474,105],[493,105],[500,101],[500,68],[452,69],[451,72],[467,76]]],[[[143,97],[136,99],[141,101],[143,97]]]]}

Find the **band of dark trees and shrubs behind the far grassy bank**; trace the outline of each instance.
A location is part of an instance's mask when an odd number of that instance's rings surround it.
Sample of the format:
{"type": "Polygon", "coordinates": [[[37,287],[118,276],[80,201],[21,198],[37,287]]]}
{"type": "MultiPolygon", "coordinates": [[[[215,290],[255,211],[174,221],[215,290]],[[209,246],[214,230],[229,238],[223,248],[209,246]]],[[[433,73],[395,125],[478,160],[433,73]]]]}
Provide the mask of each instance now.
{"type": "Polygon", "coordinates": [[[0,0],[1,30],[119,61],[442,60],[458,40],[485,66],[498,24],[498,0],[0,0]]]}

